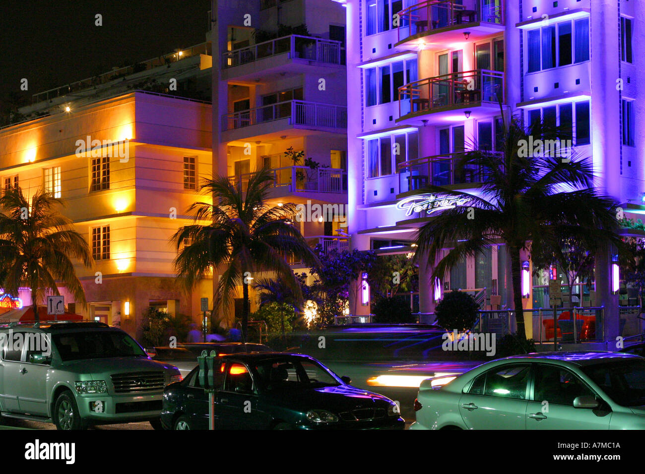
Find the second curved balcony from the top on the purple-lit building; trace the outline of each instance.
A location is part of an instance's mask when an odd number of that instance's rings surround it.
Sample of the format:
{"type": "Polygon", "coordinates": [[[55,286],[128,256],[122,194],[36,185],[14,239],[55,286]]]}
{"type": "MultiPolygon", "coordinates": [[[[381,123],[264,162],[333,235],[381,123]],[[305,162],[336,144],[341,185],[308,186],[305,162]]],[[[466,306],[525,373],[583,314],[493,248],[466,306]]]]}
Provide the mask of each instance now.
{"type": "Polygon", "coordinates": [[[504,103],[503,72],[477,69],[437,75],[399,87],[397,123],[420,116],[425,124],[463,120],[455,110],[480,119],[499,114],[500,101],[504,103]]]}

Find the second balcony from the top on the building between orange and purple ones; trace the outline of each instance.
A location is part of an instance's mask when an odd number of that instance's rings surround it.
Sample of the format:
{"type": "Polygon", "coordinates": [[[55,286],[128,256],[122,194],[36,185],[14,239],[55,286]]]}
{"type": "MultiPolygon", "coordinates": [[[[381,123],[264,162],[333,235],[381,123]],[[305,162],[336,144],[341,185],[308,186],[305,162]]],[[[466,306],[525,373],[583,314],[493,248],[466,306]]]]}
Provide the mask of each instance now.
{"type": "MultiPolygon", "coordinates": [[[[284,101],[223,116],[222,139],[231,141],[248,137],[275,139],[288,129],[312,132],[346,133],[347,108],[306,101],[284,101]],[[271,136],[276,135],[276,136],[271,136]]],[[[292,133],[293,134],[293,133],[292,133]]]]}

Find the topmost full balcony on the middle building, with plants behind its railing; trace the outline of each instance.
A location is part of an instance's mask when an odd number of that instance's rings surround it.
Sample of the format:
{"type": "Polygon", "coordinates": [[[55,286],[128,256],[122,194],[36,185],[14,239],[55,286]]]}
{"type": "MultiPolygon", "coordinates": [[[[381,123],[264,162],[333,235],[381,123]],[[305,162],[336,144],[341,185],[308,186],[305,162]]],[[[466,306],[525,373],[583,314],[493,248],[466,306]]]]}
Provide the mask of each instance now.
{"type": "Polygon", "coordinates": [[[269,81],[280,74],[329,74],[344,64],[340,41],[289,35],[222,54],[223,79],[269,81]],[[303,69],[304,68],[306,69],[303,69]]]}

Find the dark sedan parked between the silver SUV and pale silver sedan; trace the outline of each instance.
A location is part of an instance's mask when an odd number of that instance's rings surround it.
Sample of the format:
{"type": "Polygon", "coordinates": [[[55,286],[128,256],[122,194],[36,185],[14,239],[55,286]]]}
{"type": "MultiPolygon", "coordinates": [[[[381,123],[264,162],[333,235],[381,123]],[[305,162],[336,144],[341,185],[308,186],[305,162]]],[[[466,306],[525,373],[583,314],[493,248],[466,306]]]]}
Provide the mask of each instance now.
{"type": "MultiPolygon", "coordinates": [[[[403,429],[397,404],[350,386],[321,362],[284,353],[232,354],[215,359],[215,428],[403,429]]],[[[161,421],[175,430],[208,429],[208,393],[199,368],[164,390],[161,421]]]]}

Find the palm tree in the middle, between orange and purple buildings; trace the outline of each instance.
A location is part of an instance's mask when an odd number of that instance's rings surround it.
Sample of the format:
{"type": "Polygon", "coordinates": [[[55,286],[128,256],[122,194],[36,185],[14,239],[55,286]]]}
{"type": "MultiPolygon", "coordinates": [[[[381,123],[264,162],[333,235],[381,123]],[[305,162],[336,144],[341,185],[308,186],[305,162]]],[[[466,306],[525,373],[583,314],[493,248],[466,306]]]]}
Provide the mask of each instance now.
{"type": "Polygon", "coordinates": [[[273,175],[266,169],[252,173],[245,190],[227,177],[207,179],[200,192],[212,195],[215,204],[192,204],[188,213],[195,223],[180,228],[172,237],[178,252],[175,271],[183,279],[186,290],[206,277],[211,268],[225,268],[213,296],[213,312],[223,307],[224,314],[228,315],[237,287],[242,286],[244,340],[250,309],[248,287],[254,275],[275,272],[293,291],[297,301],[301,301],[299,282],[286,258],[295,257],[310,266],[318,264],[317,257],[290,220],[297,213],[295,204],[270,207],[266,203],[272,181],[273,175]],[[203,225],[199,221],[212,223],[203,225]]]}

